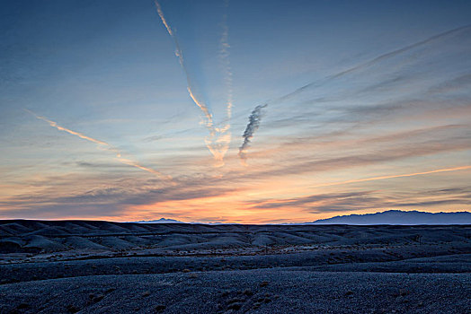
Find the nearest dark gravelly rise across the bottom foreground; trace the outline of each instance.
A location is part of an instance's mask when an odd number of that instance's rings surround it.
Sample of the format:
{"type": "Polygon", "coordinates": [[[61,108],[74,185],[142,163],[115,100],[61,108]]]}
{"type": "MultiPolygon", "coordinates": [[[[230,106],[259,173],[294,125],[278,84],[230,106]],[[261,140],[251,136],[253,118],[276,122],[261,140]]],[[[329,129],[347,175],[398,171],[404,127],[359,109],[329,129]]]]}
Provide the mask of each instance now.
{"type": "Polygon", "coordinates": [[[0,286],[1,313],[469,313],[470,274],[282,269],[97,275],[0,286]]]}

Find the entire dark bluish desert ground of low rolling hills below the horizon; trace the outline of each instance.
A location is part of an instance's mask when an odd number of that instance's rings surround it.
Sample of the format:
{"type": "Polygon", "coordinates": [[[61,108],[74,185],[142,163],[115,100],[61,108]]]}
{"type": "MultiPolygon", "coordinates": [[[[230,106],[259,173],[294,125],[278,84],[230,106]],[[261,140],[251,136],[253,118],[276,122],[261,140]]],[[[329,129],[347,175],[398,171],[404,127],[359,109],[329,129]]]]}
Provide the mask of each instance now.
{"type": "Polygon", "coordinates": [[[0,313],[469,313],[471,226],[0,221],[0,313]]]}

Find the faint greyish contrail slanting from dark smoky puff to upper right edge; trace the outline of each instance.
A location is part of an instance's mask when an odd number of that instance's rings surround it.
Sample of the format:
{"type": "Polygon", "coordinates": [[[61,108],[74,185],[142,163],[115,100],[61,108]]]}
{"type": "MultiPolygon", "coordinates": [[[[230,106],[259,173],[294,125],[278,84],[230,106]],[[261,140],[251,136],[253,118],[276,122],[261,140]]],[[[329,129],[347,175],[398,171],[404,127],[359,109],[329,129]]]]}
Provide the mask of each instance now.
{"type": "Polygon", "coordinates": [[[431,41],[435,41],[437,39],[441,39],[443,37],[446,37],[450,34],[454,34],[454,33],[457,33],[459,31],[463,31],[463,30],[466,30],[468,28],[470,28],[471,25],[465,25],[465,26],[461,26],[461,27],[458,27],[457,29],[453,29],[453,30],[450,30],[450,31],[444,31],[444,32],[441,32],[440,34],[437,34],[437,35],[434,35],[434,36],[431,36],[430,38],[428,39],[424,39],[422,41],[419,41],[419,42],[416,42],[412,45],[409,45],[409,46],[406,46],[404,48],[399,48],[399,49],[395,49],[394,51],[390,51],[390,52],[387,52],[386,54],[383,54],[383,55],[380,55],[378,57],[375,57],[363,64],[360,64],[360,65],[355,65],[353,67],[351,67],[350,69],[347,69],[347,70],[344,70],[342,72],[339,72],[337,74],[333,74],[333,75],[330,75],[330,76],[327,76],[326,78],[324,78],[324,80],[322,82],[318,82],[318,81],[315,81],[313,83],[308,83],[302,87],[299,87],[297,90],[295,90],[294,92],[289,92],[288,94],[284,95],[284,96],[281,96],[279,98],[277,98],[276,100],[272,100],[271,102],[277,102],[277,101],[282,101],[282,100],[287,100],[289,99],[290,97],[292,96],[295,96],[297,95],[299,92],[302,92],[304,90],[306,90],[307,88],[311,87],[311,86],[321,86],[323,85],[324,83],[327,83],[333,79],[336,79],[336,78],[339,78],[345,74],[350,74],[351,72],[355,72],[357,70],[360,70],[364,67],[368,67],[370,65],[375,65],[377,64],[378,62],[384,60],[384,59],[387,59],[387,58],[390,58],[390,57],[395,57],[396,55],[399,55],[399,54],[402,54],[408,50],[411,50],[413,48],[417,48],[417,47],[420,47],[420,46],[423,46],[425,44],[428,44],[429,42],[431,41]]]}

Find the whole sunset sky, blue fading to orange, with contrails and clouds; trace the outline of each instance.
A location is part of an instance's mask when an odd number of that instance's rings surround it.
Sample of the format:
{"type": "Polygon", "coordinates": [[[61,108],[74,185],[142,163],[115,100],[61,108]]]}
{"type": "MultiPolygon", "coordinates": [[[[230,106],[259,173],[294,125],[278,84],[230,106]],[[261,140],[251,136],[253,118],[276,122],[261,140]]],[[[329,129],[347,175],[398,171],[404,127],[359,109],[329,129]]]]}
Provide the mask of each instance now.
{"type": "Polygon", "coordinates": [[[469,1],[1,1],[0,219],[471,209],[469,1]]]}

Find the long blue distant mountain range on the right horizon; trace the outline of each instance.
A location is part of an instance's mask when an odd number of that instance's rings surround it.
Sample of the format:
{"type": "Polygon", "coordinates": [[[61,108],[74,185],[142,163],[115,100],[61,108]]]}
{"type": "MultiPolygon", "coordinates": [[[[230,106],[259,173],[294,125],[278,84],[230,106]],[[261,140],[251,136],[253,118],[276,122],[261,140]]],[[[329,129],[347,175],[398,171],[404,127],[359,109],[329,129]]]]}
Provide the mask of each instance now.
{"type": "Polygon", "coordinates": [[[375,214],[349,214],[308,222],[312,224],[471,224],[471,213],[427,213],[391,210],[375,214]]]}

